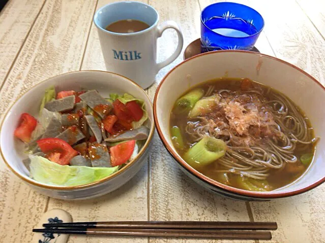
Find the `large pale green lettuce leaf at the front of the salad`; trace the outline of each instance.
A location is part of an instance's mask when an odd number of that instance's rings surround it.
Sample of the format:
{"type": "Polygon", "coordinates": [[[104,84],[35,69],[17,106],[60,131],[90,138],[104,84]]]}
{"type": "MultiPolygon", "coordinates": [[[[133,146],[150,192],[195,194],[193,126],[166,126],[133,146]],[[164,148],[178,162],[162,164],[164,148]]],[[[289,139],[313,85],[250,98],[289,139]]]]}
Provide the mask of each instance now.
{"type": "Polygon", "coordinates": [[[60,165],[41,156],[29,155],[31,178],[55,186],[79,186],[99,181],[119,169],[119,166],[86,167],[60,165]]]}

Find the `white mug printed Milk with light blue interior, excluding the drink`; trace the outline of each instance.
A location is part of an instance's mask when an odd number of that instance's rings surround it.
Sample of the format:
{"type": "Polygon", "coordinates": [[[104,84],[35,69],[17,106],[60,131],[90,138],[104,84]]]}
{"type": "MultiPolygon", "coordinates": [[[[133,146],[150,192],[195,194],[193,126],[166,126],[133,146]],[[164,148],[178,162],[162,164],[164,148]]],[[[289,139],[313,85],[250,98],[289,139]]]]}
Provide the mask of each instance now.
{"type": "Polygon", "coordinates": [[[159,14],[151,6],[139,2],[116,2],[99,9],[94,16],[107,71],[121,74],[143,89],[155,82],[158,71],[180,55],[183,35],[178,24],[166,21],[158,25],[159,14]],[[119,20],[140,20],[150,27],[133,33],[116,33],[105,28],[119,20]],[[178,34],[175,52],[157,63],[157,39],[165,29],[172,28],[178,34]]]}

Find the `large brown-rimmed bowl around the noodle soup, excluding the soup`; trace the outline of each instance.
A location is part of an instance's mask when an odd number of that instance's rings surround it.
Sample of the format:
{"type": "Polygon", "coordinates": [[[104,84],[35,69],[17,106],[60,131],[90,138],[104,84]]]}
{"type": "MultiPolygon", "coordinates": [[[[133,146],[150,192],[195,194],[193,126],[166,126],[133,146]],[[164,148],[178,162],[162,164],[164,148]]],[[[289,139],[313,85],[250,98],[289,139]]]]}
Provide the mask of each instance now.
{"type": "Polygon", "coordinates": [[[216,51],[194,56],[175,66],[161,81],[154,100],[154,117],[163,144],[181,169],[198,184],[240,200],[270,200],[293,196],[325,181],[325,88],[300,68],[283,60],[248,51],[216,51]],[[286,94],[310,119],[316,136],[315,156],[293,183],[269,192],[246,191],[216,182],[193,169],[173,147],[169,117],[173,104],[191,87],[220,77],[249,78],[286,94]]]}

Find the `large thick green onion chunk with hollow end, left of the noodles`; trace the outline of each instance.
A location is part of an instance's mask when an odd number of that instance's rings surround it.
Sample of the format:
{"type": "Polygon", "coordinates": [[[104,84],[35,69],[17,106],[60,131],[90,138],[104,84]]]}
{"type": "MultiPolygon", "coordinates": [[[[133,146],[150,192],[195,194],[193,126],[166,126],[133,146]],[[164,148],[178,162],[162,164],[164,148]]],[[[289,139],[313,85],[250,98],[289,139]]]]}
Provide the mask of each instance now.
{"type": "Polygon", "coordinates": [[[193,168],[208,165],[224,156],[226,147],[222,140],[205,136],[184,154],[184,159],[193,168]]]}

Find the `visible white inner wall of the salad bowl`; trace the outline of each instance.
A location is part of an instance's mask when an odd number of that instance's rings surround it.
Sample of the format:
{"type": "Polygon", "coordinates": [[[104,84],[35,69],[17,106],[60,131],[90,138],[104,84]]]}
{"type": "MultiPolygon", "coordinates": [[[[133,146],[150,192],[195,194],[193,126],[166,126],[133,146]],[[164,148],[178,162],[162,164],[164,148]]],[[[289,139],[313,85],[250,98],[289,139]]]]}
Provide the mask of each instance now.
{"type": "MultiPolygon", "coordinates": [[[[24,144],[13,136],[14,130],[22,113],[29,113],[38,118],[39,107],[44,91],[52,85],[55,86],[56,91],[96,89],[103,97],[109,97],[110,93],[129,93],[145,101],[145,109],[151,121],[151,133],[154,130],[152,103],[143,89],[129,79],[102,71],[81,71],[50,78],[27,91],[14,103],[8,111],[1,128],[0,144],[3,157],[8,165],[27,181],[36,182],[28,177],[29,172],[22,163],[22,160],[27,158],[27,155],[23,152],[24,144]]],[[[148,139],[142,150],[147,147],[149,142],[148,139]]],[[[140,153],[141,151],[139,151],[139,154],[140,153]]]]}

